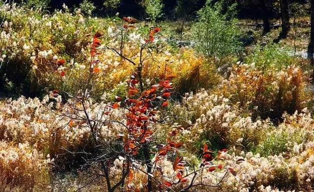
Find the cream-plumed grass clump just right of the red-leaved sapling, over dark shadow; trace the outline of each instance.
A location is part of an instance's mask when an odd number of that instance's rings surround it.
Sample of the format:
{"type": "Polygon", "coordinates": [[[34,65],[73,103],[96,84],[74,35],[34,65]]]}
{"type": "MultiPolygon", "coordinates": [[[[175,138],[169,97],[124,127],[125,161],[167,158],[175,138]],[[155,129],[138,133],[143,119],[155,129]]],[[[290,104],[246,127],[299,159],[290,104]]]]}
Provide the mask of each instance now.
{"type": "Polygon", "coordinates": [[[269,120],[253,121],[229,99],[205,90],[185,94],[182,104],[173,106],[171,113],[176,118],[175,122],[185,129],[181,139],[189,146],[190,152],[198,151],[206,141],[216,150],[233,145],[241,150],[250,150],[261,142],[264,133],[272,129],[269,120]]]}

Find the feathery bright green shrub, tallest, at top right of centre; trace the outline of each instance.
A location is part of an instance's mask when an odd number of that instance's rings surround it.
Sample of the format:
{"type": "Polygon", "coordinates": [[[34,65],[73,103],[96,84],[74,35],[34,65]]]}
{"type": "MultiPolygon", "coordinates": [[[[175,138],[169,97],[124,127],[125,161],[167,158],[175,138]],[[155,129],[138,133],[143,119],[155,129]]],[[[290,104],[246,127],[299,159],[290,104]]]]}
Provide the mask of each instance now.
{"type": "Polygon", "coordinates": [[[219,11],[219,3],[211,7],[207,4],[199,12],[198,22],[193,27],[196,49],[213,58],[222,59],[228,55],[238,54],[242,50],[238,39],[240,29],[235,20],[227,21],[219,11]]]}

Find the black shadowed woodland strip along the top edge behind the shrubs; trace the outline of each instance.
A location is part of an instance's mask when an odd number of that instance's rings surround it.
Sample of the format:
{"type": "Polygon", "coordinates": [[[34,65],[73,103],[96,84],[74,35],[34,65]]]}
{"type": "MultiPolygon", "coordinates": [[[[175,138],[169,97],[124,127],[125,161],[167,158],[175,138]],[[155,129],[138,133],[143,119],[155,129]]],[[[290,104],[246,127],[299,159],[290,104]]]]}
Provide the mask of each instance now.
{"type": "MultiPolygon", "coordinates": [[[[18,3],[21,2],[47,2],[47,9],[53,11],[54,9],[61,9],[62,5],[65,3],[69,8],[78,7],[80,3],[84,0],[17,0],[18,3]]],[[[111,16],[119,12],[122,16],[133,16],[138,19],[145,19],[145,9],[143,7],[143,1],[145,0],[89,0],[94,3],[96,9],[94,14],[98,16],[111,16]],[[104,6],[117,3],[117,5],[112,7],[104,6]]],[[[161,19],[184,19],[190,18],[194,19],[196,12],[201,9],[207,0],[161,0],[163,3],[163,16],[161,19]],[[178,13],[177,7],[183,5],[183,14],[178,13]],[[184,11],[185,10],[185,11],[184,11]]],[[[211,0],[215,3],[219,0],[211,0]]],[[[239,18],[251,18],[258,19],[261,18],[259,13],[259,0],[222,0],[226,8],[233,3],[237,3],[237,13],[239,18]]],[[[272,9],[269,14],[270,17],[279,17],[279,0],[265,0],[266,4],[272,4],[272,9]],[[276,4],[278,6],[276,6],[276,4]],[[275,6],[274,6],[275,5],[275,6]]],[[[298,2],[301,4],[307,3],[309,0],[289,0],[290,3],[298,2]]]]}

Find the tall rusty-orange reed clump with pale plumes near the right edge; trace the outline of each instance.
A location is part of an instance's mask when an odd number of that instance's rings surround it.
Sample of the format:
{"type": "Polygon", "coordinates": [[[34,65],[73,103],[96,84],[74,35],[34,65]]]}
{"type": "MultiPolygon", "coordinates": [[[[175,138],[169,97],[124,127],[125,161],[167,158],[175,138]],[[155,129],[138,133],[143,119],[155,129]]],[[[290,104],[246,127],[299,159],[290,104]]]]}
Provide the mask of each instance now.
{"type": "Polygon", "coordinates": [[[235,65],[217,93],[250,112],[253,118],[262,119],[279,119],[285,111],[301,111],[310,107],[313,98],[308,74],[293,65],[280,71],[258,70],[254,64],[235,65]]]}

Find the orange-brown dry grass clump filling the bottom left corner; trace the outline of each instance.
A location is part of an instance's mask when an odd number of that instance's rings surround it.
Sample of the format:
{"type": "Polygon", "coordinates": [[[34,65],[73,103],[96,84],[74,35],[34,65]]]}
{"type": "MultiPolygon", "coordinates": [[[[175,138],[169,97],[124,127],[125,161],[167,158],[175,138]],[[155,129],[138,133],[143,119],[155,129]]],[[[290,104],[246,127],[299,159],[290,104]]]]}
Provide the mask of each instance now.
{"type": "Polygon", "coordinates": [[[19,189],[20,191],[48,190],[49,160],[42,153],[32,149],[29,143],[14,145],[0,142],[0,189],[19,189]]]}

